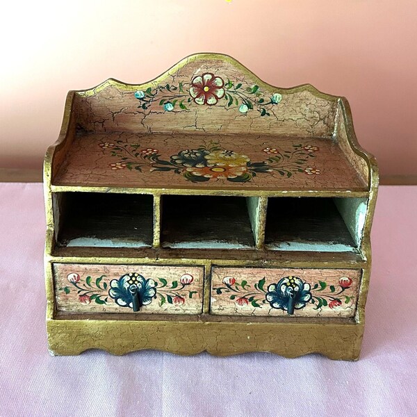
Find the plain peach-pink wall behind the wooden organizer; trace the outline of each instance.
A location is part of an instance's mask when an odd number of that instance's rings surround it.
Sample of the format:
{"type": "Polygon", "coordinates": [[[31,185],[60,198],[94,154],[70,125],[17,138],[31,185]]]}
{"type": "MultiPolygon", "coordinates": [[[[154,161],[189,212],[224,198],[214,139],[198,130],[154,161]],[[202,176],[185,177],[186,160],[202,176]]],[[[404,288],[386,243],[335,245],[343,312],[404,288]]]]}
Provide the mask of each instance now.
{"type": "Polygon", "coordinates": [[[35,1],[2,6],[0,167],[40,167],[67,90],[154,78],[189,54],[344,95],[382,174],[417,173],[417,1],[35,1]]]}

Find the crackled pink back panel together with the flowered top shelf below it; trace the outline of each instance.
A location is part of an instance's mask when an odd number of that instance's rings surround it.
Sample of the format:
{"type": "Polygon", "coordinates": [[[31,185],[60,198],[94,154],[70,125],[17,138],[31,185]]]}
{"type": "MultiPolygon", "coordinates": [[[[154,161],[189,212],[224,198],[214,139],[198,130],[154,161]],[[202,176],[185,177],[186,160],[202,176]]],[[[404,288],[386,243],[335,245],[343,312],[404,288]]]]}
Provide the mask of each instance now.
{"type": "Polygon", "coordinates": [[[334,140],[337,97],[275,88],[227,57],[193,56],[142,85],[74,96],[63,186],[366,190],[334,140]]]}

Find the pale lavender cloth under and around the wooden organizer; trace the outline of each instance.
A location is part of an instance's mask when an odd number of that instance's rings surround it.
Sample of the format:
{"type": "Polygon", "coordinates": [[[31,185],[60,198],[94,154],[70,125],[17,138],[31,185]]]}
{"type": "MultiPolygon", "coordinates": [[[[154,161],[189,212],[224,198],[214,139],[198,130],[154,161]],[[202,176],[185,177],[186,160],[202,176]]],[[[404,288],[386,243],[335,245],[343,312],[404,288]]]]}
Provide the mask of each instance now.
{"type": "Polygon", "coordinates": [[[417,416],[417,187],[381,187],[358,362],[50,357],[41,184],[0,183],[0,416],[417,416]]]}

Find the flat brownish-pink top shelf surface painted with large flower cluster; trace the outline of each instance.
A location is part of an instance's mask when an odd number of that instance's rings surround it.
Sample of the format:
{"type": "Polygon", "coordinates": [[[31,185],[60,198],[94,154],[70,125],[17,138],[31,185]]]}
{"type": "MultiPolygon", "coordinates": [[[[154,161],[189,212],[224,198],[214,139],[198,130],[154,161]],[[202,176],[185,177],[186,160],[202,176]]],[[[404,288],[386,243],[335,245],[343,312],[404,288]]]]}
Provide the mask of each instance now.
{"type": "Polygon", "coordinates": [[[202,133],[79,132],[52,185],[149,191],[368,190],[334,140],[202,133]]]}

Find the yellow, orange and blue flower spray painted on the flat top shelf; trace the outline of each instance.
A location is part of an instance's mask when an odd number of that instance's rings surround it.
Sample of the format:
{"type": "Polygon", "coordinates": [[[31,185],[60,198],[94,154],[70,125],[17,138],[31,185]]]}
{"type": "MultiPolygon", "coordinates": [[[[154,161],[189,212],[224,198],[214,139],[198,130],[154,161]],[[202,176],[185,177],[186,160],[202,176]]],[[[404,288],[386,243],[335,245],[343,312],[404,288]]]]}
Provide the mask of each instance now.
{"type": "MultiPolygon", "coordinates": [[[[100,147],[106,149],[104,144],[100,147]]],[[[142,171],[144,165],[148,165],[151,171],[173,171],[182,174],[192,182],[209,181],[210,179],[226,179],[233,182],[251,181],[256,174],[279,174],[289,178],[295,172],[305,174],[320,174],[320,170],[304,167],[309,158],[315,157],[318,147],[301,144],[293,145],[292,149],[277,149],[265,147],[263,152],[268,155],[264,161],[252,162],[247,155],[239,154],[234,150],[224,149],[218,143],[201,145],[197,149],[183,149],[178,154],[165,159],[158,149],[138,149],[140,145],[131,145],[118,140],[111,147],[112,156],[117,156],[120,161],[109,164],[112,170],[142,171]]],[[[104,152],[106,152],[104,150],[104,152]]]]}

